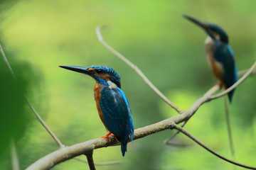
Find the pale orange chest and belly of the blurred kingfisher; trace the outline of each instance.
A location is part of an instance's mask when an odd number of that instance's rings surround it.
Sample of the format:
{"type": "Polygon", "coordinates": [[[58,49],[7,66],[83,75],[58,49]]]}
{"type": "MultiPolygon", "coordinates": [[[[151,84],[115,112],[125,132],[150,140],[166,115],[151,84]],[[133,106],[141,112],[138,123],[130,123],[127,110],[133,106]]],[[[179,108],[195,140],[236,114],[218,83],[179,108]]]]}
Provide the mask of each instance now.
{"type": "Polygon", "coordinates": [[[216,50],[214,41],[210,37],[208,37],[206,38],[205,44],[206,44],[205,46],[206,58],[208,60],[208,64],[210,65],[210,68],[212,69],[215,78],[220,81],[223,81],[224,79],[223,65],[217,60],[215,60],[213,56],[216,50]]]}

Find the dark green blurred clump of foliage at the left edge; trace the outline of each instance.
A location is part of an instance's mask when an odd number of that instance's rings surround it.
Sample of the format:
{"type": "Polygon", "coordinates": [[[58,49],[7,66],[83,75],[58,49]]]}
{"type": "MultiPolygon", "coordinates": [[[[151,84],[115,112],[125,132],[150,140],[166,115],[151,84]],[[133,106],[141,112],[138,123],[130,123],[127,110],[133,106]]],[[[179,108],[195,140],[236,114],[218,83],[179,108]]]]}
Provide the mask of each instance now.
{"type": "MultiPolygon", "coordinates": [[[[12,69],[18,73],[14,78],[4,60],[0,60],[0,160],[9,162],[10,141],[19,142],[33,120],[29,114],[31,111],[26,107],[24,95],[29,94],[28,88],[36,77],[28,63],[12,58],[15,56],[12,52],[7,52],[7,55],[12,59],[12,69]]],[[[10,165],[6,167],[11,169],[10,165]]]]}

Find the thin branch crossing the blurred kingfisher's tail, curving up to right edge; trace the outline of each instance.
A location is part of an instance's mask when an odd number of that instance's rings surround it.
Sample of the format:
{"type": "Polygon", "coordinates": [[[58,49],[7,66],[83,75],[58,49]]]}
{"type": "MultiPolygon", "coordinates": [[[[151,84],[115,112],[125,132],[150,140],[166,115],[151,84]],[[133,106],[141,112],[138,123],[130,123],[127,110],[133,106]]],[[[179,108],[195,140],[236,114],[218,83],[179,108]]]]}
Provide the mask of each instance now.
{"type": "Polygon", "coordinates": [[[245,74],[243,74],[243,76],[238,81],[236,81],[235,84],[230,86],[228,89],[225,89],[225,91],[222,91],[220,94],[210,96],[209,100],[213,100],[215,98],[219,98],[221,96],[224,96],[225,94],[228,94],[230,91],[235,89],[239,84],[241,84],[243,81],[245,81],[245,79],[247,79],[247,77],[249,77],[250,74],[252,74],[252,72],[254,71],[255,68],[256,68],[256,62],[254,64],[252,64],[252,67],[250,67],[250,69],[245,74]]]}

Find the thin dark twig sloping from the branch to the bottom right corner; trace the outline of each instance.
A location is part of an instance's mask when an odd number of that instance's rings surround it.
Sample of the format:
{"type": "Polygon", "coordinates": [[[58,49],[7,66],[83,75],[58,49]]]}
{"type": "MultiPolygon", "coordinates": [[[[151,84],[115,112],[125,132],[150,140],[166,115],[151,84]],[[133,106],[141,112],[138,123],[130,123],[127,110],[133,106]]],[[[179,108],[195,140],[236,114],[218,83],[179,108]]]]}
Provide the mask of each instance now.
{"type": "Polygon", "coordinates": [[[173,128],[175,128],[176,130],[179,130],[180,132],[182,132],[184,135],[186,135],[187,137],[189,137],[191,140],[193,140],[194,142],[196,142],[198,145],[200,145],[201,147],[203,147],[204,149],[208,150],[208,152],[214,154],[215,156],[219,157],[220,159],[225,160],[226,162],[230,162],[231,164],[235,164],[237,166],[241,166],[245,169],[256,169],[256,167],[253,166],[247,166],[245,164],[240,164],[238,162],[233,162],[232,160],[225,158],[223,156],[221,156],[220,154],[218,154],[217,152],[213,151],[213,149],[210,149],[209,147],[206,147],[206,145],[203,145],[202,142],[200,142],[199,140],[196,139],[196,137],[194,137],[193,135],[191,135],[189,132],[187,132],[186,130],[184,130],[183,128],[181,128],[180,126],[176,125],[175,123],[173,124],[173,128]]]}

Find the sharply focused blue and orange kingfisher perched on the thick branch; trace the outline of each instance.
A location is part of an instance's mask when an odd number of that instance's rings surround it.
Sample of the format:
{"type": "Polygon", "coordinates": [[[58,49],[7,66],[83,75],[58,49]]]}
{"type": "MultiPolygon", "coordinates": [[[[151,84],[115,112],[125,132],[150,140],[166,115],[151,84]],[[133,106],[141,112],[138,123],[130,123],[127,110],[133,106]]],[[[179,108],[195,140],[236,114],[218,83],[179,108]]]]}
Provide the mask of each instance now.
{"type": "Polygon", "coordinates": [[[134,123],[129,103],[121,89],[120,76],[106,66],[77,67],[60,66],[74,72],[87,74],[95,79],[94,97],[102,123],[109,131],[103,136],[110,140],[114,136],[121,143],[122,156],[127,152],[127,142],[134,137],[134,123]]]}

